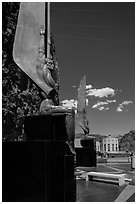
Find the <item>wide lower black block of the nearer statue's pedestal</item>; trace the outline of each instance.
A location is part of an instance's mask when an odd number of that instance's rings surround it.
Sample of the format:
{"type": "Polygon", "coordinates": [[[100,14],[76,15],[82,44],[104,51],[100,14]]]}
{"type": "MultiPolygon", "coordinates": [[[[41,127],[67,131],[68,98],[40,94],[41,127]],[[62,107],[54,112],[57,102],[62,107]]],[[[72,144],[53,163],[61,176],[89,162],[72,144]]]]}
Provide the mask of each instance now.
{"type": "Polygon", "coordinates": [[[3,142],[3,202],[73,202],[74,158],[60,141],[3,142]]]}

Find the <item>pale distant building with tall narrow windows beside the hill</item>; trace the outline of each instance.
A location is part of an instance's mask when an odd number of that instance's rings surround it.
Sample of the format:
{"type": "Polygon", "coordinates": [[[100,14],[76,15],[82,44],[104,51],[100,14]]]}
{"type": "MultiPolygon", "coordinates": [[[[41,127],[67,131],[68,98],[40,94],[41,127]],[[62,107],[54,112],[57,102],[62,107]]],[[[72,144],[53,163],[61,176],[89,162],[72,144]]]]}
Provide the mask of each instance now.
{"type": "Polygon", "coordinates": [[[108,136],[107,138],[103,138],[102,143],[103,152],[119,151],[118,138],[116,137],[108,136]]]}

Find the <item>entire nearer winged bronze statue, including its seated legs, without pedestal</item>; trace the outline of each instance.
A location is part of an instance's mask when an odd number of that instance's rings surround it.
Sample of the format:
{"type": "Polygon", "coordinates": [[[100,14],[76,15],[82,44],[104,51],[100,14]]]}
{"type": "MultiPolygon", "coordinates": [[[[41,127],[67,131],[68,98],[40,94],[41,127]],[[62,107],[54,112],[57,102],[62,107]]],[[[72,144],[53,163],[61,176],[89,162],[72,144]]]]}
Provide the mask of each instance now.
{"type": "Polygon", "coordinates": [[[68,145],[73,154],[75,112],[59,106],[59,67],[50,29],[50,3],[22,2],[13,48],[16,64],[40,88],[40,115],[66,114],[68,145]]]}

